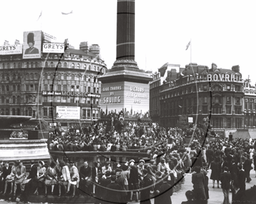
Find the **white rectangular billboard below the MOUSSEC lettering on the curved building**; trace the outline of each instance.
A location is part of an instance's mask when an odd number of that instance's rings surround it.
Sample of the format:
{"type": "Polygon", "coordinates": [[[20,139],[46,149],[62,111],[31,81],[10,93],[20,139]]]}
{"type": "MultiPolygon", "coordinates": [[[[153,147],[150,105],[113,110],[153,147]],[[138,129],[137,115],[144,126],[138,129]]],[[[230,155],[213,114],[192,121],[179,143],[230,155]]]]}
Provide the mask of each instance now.
{"type": "Polygon", "coordinates": [[[80,119],[80,107],[56,106],[56,119],[80,119]]]}

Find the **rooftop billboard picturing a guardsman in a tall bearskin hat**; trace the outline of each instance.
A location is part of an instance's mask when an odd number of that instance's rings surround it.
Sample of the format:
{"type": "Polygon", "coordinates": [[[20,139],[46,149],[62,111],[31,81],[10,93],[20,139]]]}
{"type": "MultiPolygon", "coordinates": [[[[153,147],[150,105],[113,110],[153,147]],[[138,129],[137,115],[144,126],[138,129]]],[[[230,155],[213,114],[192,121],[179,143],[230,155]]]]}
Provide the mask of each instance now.
{"type": "Polygon", "coordinates": [[[41,31],[23,33],[23,59],[41,58],[41,31]]]}

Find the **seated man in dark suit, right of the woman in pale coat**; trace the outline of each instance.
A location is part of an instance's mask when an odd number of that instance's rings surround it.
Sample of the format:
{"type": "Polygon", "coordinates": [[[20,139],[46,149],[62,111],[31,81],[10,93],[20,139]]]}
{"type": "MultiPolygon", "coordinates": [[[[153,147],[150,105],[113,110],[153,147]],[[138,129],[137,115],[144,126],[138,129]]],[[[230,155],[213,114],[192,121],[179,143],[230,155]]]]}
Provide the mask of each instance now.
{"type": "MultiPolygon", "coordinates": [[[[90,177],[91,177],[91,167],[88,166],[88,162],[84,161],[84,166],[80,167],[79,170],[80,177],[80,189],[86,195],[90,194],[90,177]]],[[[80,194],[81,195],[81,194],[80,194]]]]}

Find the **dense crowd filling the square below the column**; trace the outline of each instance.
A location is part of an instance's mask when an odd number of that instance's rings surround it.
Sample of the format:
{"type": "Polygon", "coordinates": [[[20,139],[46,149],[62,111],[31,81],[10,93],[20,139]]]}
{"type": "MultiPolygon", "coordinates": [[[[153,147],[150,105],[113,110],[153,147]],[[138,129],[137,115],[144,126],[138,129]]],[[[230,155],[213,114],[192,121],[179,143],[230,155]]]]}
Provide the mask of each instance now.
{"type": "Polygon", "coordinates": [[[66,158],[52,159],[48,165],[32,161],[29,174],[22,161],[12,166],[4,162],[0,188],[3,195],[16,195],[19,187],[25,202],[31,194],[48,196],[51,192],[59,198],[93,196],[95,203],[102,204],[139,198],[141,203],[150,203],[152,197],[155,203],[171,203],[173,190],[184,182],[185,173],[191,173],[193,190],[186,192],[188,201],[183,203],[207,203],[209,179],[212,188],[222,188],[223,204],[229,203],[230,190],[232,201],[243,201],[251,165],[256,161],[255,140],[233,139],[230,134],[229,139],[215,137],[202,144],[195,137],[187,147],[185,136],[179,128],[143,122],[124,125],[122,121],[110,129],[95,122],[79,130],[55,131],[48,140],[50,151],[133,151],[145,152],[147,158],[113,160],[106,156],[104,161],[91,162],[84,157],[82,163],[66,158]]]}

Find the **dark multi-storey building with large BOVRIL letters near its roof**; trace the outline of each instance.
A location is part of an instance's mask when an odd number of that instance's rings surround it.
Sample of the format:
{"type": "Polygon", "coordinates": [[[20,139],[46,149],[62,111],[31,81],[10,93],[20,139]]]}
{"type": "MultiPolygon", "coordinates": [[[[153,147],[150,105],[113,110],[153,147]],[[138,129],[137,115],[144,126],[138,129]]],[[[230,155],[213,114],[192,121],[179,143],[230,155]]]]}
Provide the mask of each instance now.
{"type": "Polygon", "coordinates": [[[186,115],[193,118],[193,123],[208,117],[217,129],[244,127],[244,90],[238,65],[228,70],[217,68],[214,63],[211,68],[189,64],[179,72],[168,71],[161,83],[162,71],[166,72],[166,65],[159,68],[151,82],[150,101],[159,99],[159,104],[151,101],[153,121],[157,114],[161,125],[174,127],[179,117],[186,115]],[[154,92],[158,92],[157,97],[154,92]]]}

